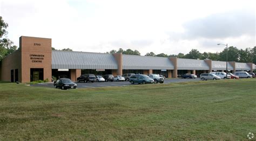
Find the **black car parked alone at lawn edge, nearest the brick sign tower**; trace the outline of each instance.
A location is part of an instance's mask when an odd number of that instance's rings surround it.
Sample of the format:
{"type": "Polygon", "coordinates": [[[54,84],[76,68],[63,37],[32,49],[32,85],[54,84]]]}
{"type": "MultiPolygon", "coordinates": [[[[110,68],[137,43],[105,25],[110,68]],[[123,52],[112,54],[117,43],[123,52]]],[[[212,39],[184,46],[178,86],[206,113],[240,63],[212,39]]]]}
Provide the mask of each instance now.
{"type": "Polygon", "coordinates": [[[55,88],[61,88],[61,89],[76,89],[77,84],[72,82],[70,79],[58,79],[53,83],[53,86],[55,88]]]}

